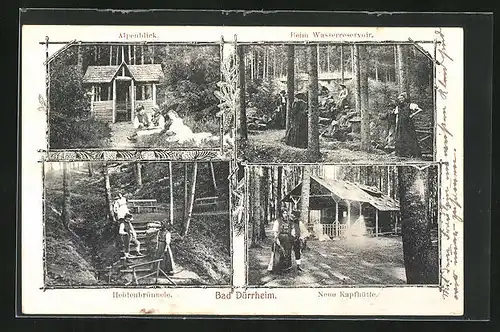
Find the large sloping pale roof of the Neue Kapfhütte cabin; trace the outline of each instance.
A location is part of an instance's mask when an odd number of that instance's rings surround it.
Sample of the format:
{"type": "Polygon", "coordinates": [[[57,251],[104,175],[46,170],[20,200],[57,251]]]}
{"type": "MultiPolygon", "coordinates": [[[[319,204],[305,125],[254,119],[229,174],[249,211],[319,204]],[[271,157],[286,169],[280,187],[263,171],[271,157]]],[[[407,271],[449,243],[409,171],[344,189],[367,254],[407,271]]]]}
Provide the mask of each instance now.
{"type": "MultiPolygon", "coordinates": [[[[292,197],[300,197],[301,190],[302,183],[299,183],[283,198],[283,201],[290,202],[292,197]]],[[[399,203],[395,199],[384,195],[377,188],[358,183],[311,176],[309,193],[311,204],[315,204],[316,200],[324,200],[329,197],[332,199],[332,203],[333,201],[355,201],[370,204],[379,211],[399,211],[399,203]]]]}

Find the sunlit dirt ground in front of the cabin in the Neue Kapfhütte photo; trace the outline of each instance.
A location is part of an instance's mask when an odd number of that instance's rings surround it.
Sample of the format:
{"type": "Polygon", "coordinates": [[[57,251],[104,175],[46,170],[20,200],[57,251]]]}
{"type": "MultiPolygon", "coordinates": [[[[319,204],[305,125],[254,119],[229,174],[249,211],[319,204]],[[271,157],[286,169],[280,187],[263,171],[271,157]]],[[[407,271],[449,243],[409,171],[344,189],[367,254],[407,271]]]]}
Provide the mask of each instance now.
{"type": "Polygon", "coordinates": [[[302,253],[304,271],[298,272],[294,262],[288,272],[267,272],[271,253],[269,233],[261,247],[249,249],[249,285],[317,287],[406,283],[399,237],[309,241],[307,246],[302,253]]]}

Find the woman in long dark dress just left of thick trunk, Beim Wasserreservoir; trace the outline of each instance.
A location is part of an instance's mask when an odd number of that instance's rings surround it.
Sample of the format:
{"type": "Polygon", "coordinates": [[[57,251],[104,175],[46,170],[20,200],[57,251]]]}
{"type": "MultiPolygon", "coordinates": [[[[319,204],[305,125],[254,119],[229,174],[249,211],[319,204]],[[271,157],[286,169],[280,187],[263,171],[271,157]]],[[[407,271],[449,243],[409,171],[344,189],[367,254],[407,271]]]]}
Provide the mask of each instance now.
{"type": "Polygon", "coordinates": [[[308,125],[307,95],[298,93],[292,104],[290,128],[285,134],[285,144],[296,148],[307,148],[308,125]]]}

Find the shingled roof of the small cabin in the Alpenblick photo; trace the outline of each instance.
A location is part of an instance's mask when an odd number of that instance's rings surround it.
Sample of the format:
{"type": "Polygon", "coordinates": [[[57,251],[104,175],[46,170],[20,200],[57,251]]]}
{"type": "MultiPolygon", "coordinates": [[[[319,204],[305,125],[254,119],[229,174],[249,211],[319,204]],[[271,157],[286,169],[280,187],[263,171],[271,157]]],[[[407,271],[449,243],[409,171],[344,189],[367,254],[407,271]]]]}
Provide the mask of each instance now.
{"type": "Polygon", "coordinates": [[[122,63],[117,66],[88,66],[83,76],[84,83],[110,83],[122,66],[128,69],[136,82],[159,82],[163,77],[161,65],[127,65],[122,63]]]}

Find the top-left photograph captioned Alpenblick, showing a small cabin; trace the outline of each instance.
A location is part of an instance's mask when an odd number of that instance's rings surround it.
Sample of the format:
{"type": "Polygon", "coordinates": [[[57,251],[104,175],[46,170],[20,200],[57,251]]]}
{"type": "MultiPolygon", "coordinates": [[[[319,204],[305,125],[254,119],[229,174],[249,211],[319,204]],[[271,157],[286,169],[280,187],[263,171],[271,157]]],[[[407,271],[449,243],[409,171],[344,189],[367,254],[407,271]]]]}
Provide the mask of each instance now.
{"type": "Polygon", "coordinates": [[[68,42],[46,61],[49,149],[232,146],[216,94],[221,53],[220,44],[68,42]]]}

